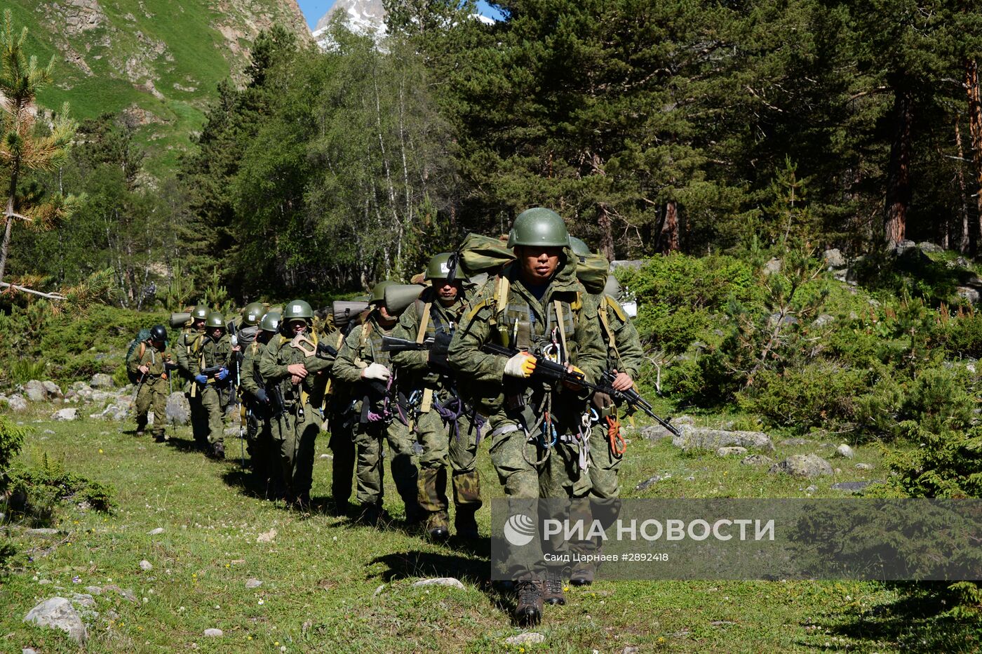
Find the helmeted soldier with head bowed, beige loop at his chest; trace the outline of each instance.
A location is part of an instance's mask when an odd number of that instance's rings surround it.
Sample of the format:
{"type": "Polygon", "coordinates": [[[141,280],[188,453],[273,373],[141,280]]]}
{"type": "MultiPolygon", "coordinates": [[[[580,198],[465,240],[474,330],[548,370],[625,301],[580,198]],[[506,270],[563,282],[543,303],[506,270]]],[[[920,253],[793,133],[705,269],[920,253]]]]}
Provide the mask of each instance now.
{"type": "Polygon", "coordinates": [[[259,361],[270,401],[273,440],[279,445],[286,499],[299,509],[310,506],[314,442],[320,431],[321,405],[334,355],[318,347],[311,331],[313,309],[292,300],[283,311],[280,333],[259,361]]]}

